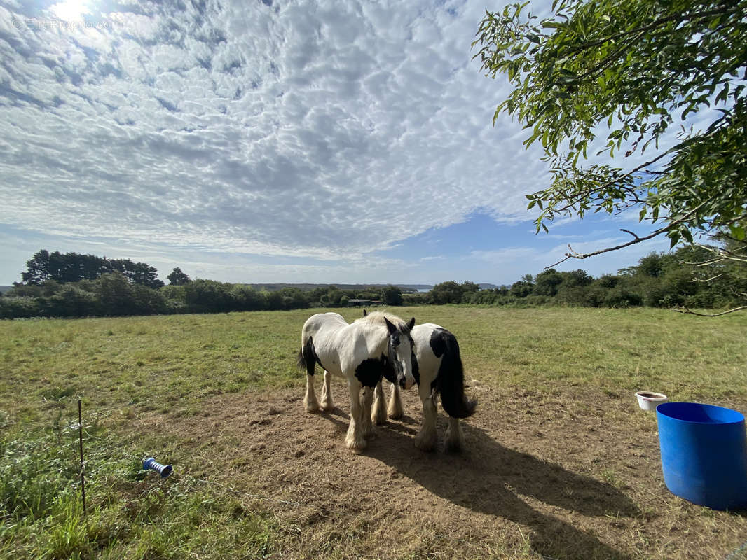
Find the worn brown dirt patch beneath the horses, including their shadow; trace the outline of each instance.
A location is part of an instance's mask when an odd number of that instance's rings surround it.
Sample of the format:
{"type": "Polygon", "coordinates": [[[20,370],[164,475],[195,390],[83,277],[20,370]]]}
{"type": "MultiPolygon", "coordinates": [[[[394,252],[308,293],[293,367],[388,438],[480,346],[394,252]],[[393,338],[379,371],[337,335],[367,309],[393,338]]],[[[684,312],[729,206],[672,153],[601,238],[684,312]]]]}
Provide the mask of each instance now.
{"type": "MultiPolygon", "coordinates": [[[[347,391],[337,382],[333,392],[330,413],[307,414],[303,393],[283,390],[137,422],[173,438],[176,481],[219,483],[240,510],[271,517],[283,535],[273,556],[285,559],[745,558],[734,551],[747,515],[667,491],[655,414],[632,395],[471,382],[479,403],[463,422],[467,449],[446,454],[413,447],[421,405],[409,391],[406,417],[354,455],[344,447],[347,391]]],[[[438,429],[442,439],[442,411],[438,429]]]]}

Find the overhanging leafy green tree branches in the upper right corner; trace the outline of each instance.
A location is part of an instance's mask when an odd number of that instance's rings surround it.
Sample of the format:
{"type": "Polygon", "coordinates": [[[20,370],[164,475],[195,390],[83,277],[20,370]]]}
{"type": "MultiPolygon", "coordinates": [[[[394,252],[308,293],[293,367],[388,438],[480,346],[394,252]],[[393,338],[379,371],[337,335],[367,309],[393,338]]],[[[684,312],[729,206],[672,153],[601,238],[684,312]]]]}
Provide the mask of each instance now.
{"type": "Polygon", "coordinates": [[[566,258],[662,234],[672,246],[716,231],[744,241],[747,0],[555,0],[542,21],[527,4],[487,13],[473,46],[486,74],[512,85],[494,122],[515,116],[550,164],[550,186],[527,195],[537,230],[636,208],[653,232],[566,258]],[[675,137],[688,116],[703,128],[675,137]],[[580,163],[596,147],[614,164],[580,163]]]}

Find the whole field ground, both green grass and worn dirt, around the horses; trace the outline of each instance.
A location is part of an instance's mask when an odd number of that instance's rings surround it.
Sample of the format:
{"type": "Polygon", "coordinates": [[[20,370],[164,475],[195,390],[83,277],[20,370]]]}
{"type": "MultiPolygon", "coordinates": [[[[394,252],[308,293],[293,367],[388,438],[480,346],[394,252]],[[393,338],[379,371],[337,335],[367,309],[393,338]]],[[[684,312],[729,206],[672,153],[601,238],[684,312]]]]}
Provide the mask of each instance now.
{"type": "Polygon", "coordinates": [[[458,337],[480,399],[465,428],[473,450],[447,462],[410,449],[412,396],[409,424],[382,428],[362,456],[344,449],[334,418],[302,414],[295,362],[314,311],[0,322],[0,557],[684,559],[747,541],[743,515],[666,491],[655,417],[633,399],[645,389],[746,411],[746,314],[398,308],[458,337]],[[478,449],[565,490],[480,462],[478,449]],[[141,473],[146,455],[175,475],[141,473]],[[428,479],[434,465],[474,471],[469,492],[428,479]],[[356,492],[350,473],[363,468],[379,483],[356,492]],[[340,469],[343,482],[325,478],[340,469]],[[505,509],[477,497],[480,472],[506,485],[505,509]],[[583,505],[584,486],[607,501],[583,505]]]}

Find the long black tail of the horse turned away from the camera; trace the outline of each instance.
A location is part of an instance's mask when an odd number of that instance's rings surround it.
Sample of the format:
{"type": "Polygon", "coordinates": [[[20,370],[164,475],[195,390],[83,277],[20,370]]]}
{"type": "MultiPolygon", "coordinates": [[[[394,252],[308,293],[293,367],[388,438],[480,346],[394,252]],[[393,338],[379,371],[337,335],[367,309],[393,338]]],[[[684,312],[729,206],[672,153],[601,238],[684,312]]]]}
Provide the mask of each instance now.
{"type": "Polygon", "coordinates": [[[465,395],[465,374],[462,367],[462,356],[459,354],[459,343],[456,337],[446,329],[441,329],[431,339],[431,346],[436,355],[441,354],[441,366],[438,367],[436,385],[441,393],[441,405],[452,418],[467,418],[474,414],[477,399],[468,399],[465,395]],[[440,346],[440,348],[439,348],[440,346]],[[441,352],[438,352],[438,351],[441,352]]]}

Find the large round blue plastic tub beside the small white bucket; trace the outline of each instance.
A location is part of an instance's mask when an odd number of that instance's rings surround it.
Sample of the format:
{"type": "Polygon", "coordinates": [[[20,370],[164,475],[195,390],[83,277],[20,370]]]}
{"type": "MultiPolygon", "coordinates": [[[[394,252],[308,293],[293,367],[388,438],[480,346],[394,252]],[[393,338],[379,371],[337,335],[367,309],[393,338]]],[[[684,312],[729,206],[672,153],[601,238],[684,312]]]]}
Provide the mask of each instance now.
{"type": "Polygon", "coordinates": [[[712,509],[747,507],[743,414],[697,402],[664,402],[656,414],[669,491],[712,509]]]}

